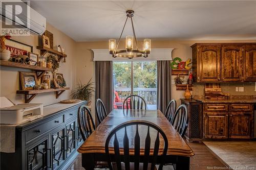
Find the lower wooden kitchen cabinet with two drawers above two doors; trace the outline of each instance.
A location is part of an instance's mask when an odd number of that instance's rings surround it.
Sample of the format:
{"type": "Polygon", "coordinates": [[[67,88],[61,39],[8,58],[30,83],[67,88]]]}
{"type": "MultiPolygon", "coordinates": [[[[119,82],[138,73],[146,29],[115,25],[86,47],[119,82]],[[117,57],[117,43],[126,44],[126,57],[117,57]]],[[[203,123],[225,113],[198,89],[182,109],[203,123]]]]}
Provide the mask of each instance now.
{"type": "Polygon", "coordinates": [[[203,138],[253,138],[253,104],[203,103],[203,138]]]}

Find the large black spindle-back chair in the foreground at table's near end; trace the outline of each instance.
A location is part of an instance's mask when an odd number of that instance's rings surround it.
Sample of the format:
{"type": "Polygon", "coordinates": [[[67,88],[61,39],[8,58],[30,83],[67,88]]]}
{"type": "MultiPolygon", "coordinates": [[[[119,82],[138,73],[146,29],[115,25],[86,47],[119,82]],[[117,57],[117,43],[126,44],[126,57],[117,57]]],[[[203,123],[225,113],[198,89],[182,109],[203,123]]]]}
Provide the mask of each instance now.
{"type": "MultiPolygon", "coordinates": [[[[151,134],[153,132],[151,131],[151,134]]],[[[112,143],[112,142],[111,142],[112,143]]],[[[112,147],[112,146],[111,146],[112,147]]],[[[113,148],[112,147],[112,148],[113,148]]],[[[130,170],[130,169],[156,169],[156,163],[157,160],[161,160],[162,162],[159,165],[158,169],[163,168],[165,156],[167,153],[168,149],[168,139],[163,132],[161,128],[159,128],[157,125],[147,122],[145,120],[131,120],[129,122],[125,122],[123,124],[118,125],[115,127],[108,137],[106,138],[105,142],[105,154],[108,156],[109,160],[109,168],[110,170],[112,169],[125,169],[125,170],[130,170]],[[133,126],[133,127],[132,127],[133,126]],[[140,127],[139,127],[140,126],[140,127]],[[144,129],[142,129],[144,126],[144,129]],[[131,137],[130,135],[127,135],[128,130],[134,129],[136,131],[135,136],[131,137]],[[127,130],[128,129],[128,130],[127,130]],[[140,134],[139,134],[139,129],[141,133],[141,136],[145,136],[145,138],[141,139],[140,134]],[[154,152],[150,154],[150,149],[151,149],[151,135],[150,135],[150,129],[154,129],[156,132],[156,139],[154,142],[154,152]],[[124,133],[120,132],[120,130],[124,130],[124,133]],[[160,140],[159,140],[159,133],[163,138],[164,144],[163,144],[163,151],[161,154],[161,159],[159,159],[159,145],[160,145],[160,140]],[[113,137],[114,136],[114,137],[113,137]],[[117,137],[119,136],[119,137],[117,137]],[[133,138],[134,140],[129,139],[129,137],[133,138]],[[114,153],[110,154],[110,141],[114,138],[113,142],[113,147],[114,147],[114,153]],[[120,156],[120,144],[118,141],[118,138],[122,140],[121,147],[123,148],[123,156],[120,156]],[[140,145],[141,143],[145,143],[144,145],[144,153],[143,159],[142,156],[140,155],[140,145]],[[130,153],[130,145],[134,144],[134,152],[131,154],[130,153]],[[121,160],[123,158],[123,160],[121,160]],[[114,162],[114,163],[112,163],[114,162]]]]}

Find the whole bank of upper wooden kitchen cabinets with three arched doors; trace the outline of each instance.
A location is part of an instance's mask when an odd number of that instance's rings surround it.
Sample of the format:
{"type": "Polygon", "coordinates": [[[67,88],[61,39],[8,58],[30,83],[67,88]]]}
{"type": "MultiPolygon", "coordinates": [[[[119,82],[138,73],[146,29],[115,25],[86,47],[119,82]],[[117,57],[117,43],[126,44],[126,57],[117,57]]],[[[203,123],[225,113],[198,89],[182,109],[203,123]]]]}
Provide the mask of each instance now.
{"type": "Polygon", "coordinates": [[[196,43],[191,48],[194,81],[256,81],[256,43],[196,43]]]}

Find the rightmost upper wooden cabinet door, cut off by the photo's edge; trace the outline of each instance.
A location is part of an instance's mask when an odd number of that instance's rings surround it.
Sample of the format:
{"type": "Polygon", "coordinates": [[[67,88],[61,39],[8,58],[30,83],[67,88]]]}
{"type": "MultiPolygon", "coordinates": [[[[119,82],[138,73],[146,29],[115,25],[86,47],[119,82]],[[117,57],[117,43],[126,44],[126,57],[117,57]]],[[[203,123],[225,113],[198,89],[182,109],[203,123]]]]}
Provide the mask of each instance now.
{"type": "Polygon", "coordinates": [[[256,81],[256,44],[244,47],[244,81],[256,81]]]}

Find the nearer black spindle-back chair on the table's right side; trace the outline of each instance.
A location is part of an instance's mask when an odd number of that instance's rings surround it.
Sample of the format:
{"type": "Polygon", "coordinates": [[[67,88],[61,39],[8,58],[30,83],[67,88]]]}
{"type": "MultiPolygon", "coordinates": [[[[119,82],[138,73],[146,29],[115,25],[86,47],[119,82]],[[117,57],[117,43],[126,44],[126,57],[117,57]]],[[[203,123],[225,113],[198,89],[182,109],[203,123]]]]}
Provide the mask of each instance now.
{"type": "Polygon", "coordinates": [[[185,135],[188,126],[187,107],[185,105],[180,105],[177,108],[174,118],[170,124],[173,125],[181,137],[185,135]]]}

